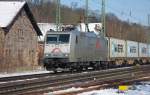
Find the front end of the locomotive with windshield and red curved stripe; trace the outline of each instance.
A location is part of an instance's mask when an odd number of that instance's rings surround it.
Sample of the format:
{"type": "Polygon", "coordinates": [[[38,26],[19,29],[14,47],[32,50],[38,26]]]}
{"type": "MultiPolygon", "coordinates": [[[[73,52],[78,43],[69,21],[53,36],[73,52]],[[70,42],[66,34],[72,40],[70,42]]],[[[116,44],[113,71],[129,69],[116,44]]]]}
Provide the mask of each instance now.
{"type": "Polygon", "coordinates": [[[44,66],[48,69],[63,67],[69,60],[70,33],[47,32],[44,46],[44,66]]]}

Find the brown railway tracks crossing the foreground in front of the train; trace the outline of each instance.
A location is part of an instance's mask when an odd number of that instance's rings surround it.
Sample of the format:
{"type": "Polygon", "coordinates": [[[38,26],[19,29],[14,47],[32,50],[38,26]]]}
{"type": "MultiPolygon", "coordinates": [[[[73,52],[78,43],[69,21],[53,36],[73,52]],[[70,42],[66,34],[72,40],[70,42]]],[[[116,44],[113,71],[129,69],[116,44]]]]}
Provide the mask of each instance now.
{"type": "Polygon", "coordinates": [[[117,68],[87,73],[39,77],[0,84],[0,95],[19,95],[58,91],[70,87],[86,87],[114,81],[134,80],[149,76],[150,65],[117,68]]]}

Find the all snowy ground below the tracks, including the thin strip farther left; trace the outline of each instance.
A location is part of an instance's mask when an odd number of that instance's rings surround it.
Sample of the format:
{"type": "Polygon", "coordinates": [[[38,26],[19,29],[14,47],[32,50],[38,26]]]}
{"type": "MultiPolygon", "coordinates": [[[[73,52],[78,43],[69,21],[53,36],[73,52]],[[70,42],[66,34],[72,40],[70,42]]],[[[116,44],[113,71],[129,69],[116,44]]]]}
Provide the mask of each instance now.
{"type": "MultiPolygon", "coordinates": [[[[55,95],[55,94],[60,95],[60,93],[67,93],[67,92],[74,92],[74,91],[78,92],[80,90],[83,90],[83,88],[72,87],[62,91],[45,93],[44,95],[55,95]]],[[[78,95],[150,95],[150,82],[142,82],[142,83],[138,83],[138,85],[129,86],[129,89],[125,92],[119,92],[118,89],[110,88],[110,89],[84,92],[78,95]]]]}

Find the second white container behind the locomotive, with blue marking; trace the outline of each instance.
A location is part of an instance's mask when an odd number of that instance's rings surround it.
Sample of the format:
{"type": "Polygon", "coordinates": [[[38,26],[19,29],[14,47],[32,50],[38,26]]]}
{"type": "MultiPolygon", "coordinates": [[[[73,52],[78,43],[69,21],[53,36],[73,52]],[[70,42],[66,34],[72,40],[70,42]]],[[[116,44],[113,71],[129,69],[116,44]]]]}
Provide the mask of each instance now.
{"type": "Polygon", "coordinates": [[[138,57],[138,42],[126,41],[127,57],[138,57]]]}

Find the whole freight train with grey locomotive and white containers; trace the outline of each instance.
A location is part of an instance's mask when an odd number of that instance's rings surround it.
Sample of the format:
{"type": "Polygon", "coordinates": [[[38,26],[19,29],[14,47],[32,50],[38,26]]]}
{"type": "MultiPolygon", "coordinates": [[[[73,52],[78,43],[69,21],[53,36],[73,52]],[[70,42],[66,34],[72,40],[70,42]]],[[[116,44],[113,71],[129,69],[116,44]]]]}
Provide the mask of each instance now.
{"type": "Polygon", "coordinates": [[[76,29],[46,33],[44,67],[71,71],[149,64],[150,44],[76,29]]]}

